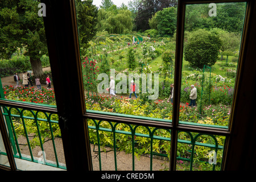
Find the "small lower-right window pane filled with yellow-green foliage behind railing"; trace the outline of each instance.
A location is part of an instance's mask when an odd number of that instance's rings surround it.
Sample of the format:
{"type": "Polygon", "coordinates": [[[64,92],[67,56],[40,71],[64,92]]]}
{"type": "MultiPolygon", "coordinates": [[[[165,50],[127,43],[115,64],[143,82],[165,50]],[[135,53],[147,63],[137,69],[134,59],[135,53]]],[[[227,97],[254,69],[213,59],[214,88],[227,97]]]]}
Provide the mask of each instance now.
{"type": "Polygon", "coordinates": [[[225,137],[180,131],[177,171],[220,171],[225,137]]]}

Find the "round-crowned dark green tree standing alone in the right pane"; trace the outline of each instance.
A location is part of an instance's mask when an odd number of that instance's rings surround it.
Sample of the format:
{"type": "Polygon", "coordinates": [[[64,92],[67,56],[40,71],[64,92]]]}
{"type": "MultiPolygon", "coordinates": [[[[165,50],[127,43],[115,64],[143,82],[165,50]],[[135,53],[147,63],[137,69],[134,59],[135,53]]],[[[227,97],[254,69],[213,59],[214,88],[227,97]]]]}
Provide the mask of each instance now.
{"type": "Polygon", "coordinates": [[[203,68],[216,63],[221,40],[218,35],[207,30],[197,30],[188,38],[184,48],[184,59],[192,67],[203,68]]]}

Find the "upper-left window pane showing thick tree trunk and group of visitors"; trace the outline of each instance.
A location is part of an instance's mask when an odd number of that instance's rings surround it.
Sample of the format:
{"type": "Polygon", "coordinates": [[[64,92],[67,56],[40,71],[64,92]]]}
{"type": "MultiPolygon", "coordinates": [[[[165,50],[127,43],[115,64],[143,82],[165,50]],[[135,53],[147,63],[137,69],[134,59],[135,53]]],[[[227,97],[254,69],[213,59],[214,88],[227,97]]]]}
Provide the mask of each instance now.
{"type": "Polygon", "coordinates": [[[0,2],[0,94],[7,100],[55,105],[43,23],[46,11],[39,3],[0,2]]]}

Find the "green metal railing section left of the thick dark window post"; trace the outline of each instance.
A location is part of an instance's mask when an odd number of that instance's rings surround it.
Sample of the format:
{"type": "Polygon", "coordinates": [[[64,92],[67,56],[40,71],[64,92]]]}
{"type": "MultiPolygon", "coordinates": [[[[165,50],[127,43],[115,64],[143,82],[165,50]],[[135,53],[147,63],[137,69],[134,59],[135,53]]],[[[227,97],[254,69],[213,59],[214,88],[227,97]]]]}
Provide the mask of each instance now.
{"type": "MultiPolygon", "coordinates": [[[[64,165],[60,165],[59,163],[55,146],[56,128],[58,128],[59,125],[59,122],[57,121],[58,117],[56,114],[6,106],[1,106],[1,109],[7,123],[9,138],[12,139],[11,141],[13,141],[11,142],[11,146],[13,147],[15,158],[66,169],[64,165]],[[31,137],[31,131],[32,134],[34,134],[34,141],[29,139],[31,137]],[[26,138],[30,158],[27,155],[22,155],[22,151],[20,150],[20,143],[18,142],[19,137],[26,138]],[[53,163],[49,163],[46,160],[46,153],[44,152],[43,147],[43,143],[46,137],[52,141],[53,152],[55,155],[55,162],[53,163]],[[43,159],[36,159],[33,155],[32,148],[35,145],[40,146],[43,159]]],[[[0,151],[0,154],[6,155],[6,153],[2,151],[0,151]]]]}

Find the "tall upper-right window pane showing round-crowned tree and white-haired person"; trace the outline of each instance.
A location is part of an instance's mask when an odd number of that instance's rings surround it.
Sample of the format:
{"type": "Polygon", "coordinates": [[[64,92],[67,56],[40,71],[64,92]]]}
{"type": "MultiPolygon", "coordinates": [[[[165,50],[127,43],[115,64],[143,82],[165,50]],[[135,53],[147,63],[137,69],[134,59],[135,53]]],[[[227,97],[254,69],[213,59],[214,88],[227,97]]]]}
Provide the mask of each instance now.
{"type": "Polygon", "coordinates": [[[228,128],[246,3],[187,5],[180,123],[228,128]]]}

